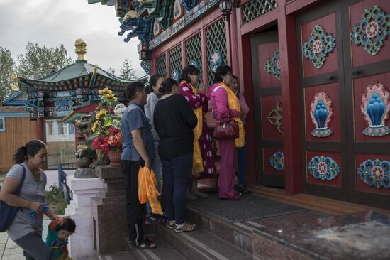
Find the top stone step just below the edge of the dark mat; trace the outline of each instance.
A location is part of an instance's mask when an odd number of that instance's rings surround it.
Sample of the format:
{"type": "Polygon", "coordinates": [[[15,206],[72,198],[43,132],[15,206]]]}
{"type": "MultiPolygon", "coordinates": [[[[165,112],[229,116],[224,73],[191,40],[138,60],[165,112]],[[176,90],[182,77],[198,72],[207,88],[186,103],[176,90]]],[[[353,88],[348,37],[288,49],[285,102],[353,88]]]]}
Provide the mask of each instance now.
{"type": "Polygon", "coordinates": [[[252,254],[252,232],[257,225],[254,222],[230,223],[189,206],[186,207],[186,217],[189,222],[197,224],[216,237],[252,254]]]}

